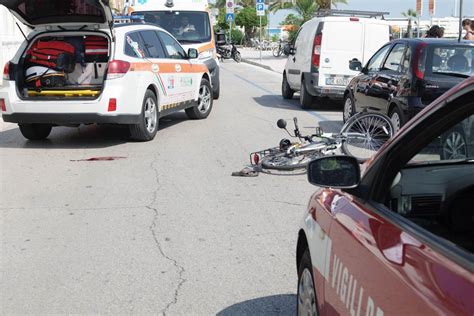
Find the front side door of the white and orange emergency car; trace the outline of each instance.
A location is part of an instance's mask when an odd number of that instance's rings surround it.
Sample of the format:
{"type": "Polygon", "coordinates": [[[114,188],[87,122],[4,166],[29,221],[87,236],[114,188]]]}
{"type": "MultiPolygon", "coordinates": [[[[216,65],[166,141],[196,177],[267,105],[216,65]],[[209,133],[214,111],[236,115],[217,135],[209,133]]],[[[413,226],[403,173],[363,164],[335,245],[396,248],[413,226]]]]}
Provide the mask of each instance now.
{"type": "Polygon", "coordinates": [[[160,66],[169,101],[182,105],[194,100],[200,85],[201,67],[191,63],[184,48],[168,33],[159,31],[168,61],[160,66]]]}

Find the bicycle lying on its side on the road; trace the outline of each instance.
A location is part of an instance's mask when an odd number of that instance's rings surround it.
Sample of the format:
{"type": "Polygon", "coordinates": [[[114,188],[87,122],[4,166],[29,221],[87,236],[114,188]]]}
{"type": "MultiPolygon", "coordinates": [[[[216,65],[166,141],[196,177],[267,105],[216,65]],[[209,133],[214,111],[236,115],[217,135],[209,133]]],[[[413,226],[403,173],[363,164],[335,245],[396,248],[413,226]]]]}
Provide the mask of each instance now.
{"type": "Polygon", "coordinates": [[[357,113],[343,125],[339,133],[323,133],[321,128],[317,127],[315,134],[305,136],[300,132],[296,117],[293,121],[294,134],[286,129],[287,123],[283,119],[278,120],[277,126],[298,141],[282,139],[278,147],[251,153],[252,166],[280,171],[302,169],[306,168],[310,161],[335,155],[338,150],[363,162],[394,135],[390,118],[379,113],[357,113]]]}

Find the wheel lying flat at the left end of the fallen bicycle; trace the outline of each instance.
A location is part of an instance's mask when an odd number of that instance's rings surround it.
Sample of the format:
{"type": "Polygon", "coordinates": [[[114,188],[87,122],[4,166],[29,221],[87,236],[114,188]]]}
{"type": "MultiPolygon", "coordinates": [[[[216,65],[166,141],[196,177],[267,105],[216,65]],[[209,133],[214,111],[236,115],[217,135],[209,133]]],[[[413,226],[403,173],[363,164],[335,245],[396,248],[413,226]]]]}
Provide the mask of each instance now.
{"type": "Polygon", "coordinates": [[[319,157],[321,157],[321,153],[316,151],[298,156],[294,154],[279,152],[273,155],[263,157],[262,168],[282,171],[301,169],[306,168],[310,161],[319,157]]]}

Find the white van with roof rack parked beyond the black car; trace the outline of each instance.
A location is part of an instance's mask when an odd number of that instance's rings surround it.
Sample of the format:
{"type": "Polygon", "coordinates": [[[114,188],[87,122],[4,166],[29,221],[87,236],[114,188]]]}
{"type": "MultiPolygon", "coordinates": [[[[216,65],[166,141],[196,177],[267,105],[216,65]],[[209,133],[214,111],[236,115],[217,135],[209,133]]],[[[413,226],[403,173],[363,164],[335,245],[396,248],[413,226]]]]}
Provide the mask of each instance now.
{"type": "Polygon", "coordinates": [[[300,92],[306,109],[314,97],[342,99],[350,80],[358,74],[349,61],[365,62],[390,40],[386,12],[324,10],[318,11],[299,30],[286,62],[282,96],[291,99],[300,92]],[[381,17],[382,19],[378,19],[381,17]]]}

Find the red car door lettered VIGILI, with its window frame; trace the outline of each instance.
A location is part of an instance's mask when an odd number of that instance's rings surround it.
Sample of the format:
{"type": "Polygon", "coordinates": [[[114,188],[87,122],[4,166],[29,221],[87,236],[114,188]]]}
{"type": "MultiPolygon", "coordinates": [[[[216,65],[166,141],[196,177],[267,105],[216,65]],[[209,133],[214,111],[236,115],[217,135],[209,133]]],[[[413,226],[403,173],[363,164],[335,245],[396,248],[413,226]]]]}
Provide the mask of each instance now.
{"type": "MultiPolygon", "coordinates": [[[[405,168],[413,170],[419,163],[425,163],[429,167],[425,167],[420,174],[430,173],[431,177],[442,179],[447,162],[434,164],[433,160],[440,160],[440,148],[435,147],[434,151],[433,144],[439,144],[444,131],[472,118],[472,90],[462,99],[456,101],[460,105],[457,113],[446,110],[437,118],[438,124],[420,124],[407,135],[409,137],[404,137],[398,146],[393,146],[386,156],[374,164],[359,184],[359,188],[370,193],[360,195],[361,198],[358,197],[361,191],[349,194],[342,190],[330,190],[334,194],[321,195],[321,207],[333,217],[329,233],[331,258],[322,314],[472,315],[472,242],[471,249],[467,250],[469,248],[435,236],[419,226],[426,225],[435,234],[443,234],[442,227],[430,223],[430,217],[420,216],[416,220],[415,214],[411,213],[415,207],[418,207],[419,214],[436,214],[439,211],[440,203],[427,204],[426,199],[420,199],[424,194],[436,192],[432,190],[439,189],[439,184],[426,184],[423,176],[415,175],[409,180],[405,180],[403,174],[401,178],[396,176],[405,168]],[[467,111],[470,117],[466,116],[467,111]],[[460,118],[464,121],[459,123],[460,118]],[[434,126],[440,124],[444,125],[437,133],[434,126]],[[408,161],[415,164],[408,166],[408,161]],[[400,185],[403,188],[398,188],[400,185]],[[400,201],[402,203],[394,201],[399,189],[406,192],[404,194],[411,191],[413,195],[407,195],[400,201]]],[[[460,174],[463,174],[464,168],[465,184],[469,186],[470,181],[472,192],[473,178],[467,180],[473,172],[472,163],[466,161],[455,167],[456,162],[453,161],[452,165],[453,170],[460,174]]],[[[450,178],[453,179],[452,175],[450,178]]],[[[441,194],[447,193],[456,196],[456,192],[449,192],[449,189],[441,194]]],[[[470,221],[472,226],[473,220],[469,217],[472,216],[469,215],[472,214],[471,204],[464,201],[464,205],[456,221],[465,229],[465,222],[470,221]]],[[[450,216],[448,223],[453,221],[453,216],[450,216]]],[[[449,235],[453,229],[450,227],[444,234],[449,235]]],[[[467,242],[465,245],[468,245],[468,236],[469,230],[458,238],[464,239],[467,242]]]]}

